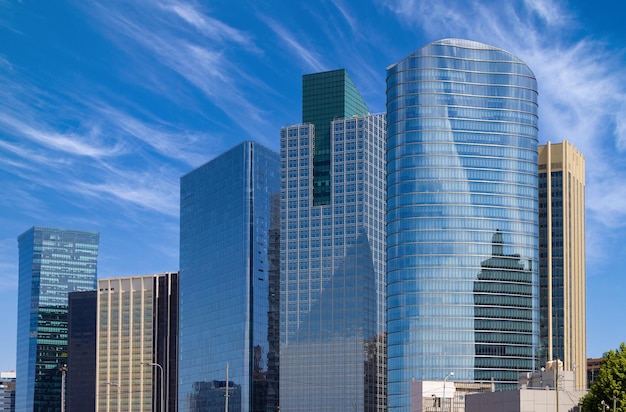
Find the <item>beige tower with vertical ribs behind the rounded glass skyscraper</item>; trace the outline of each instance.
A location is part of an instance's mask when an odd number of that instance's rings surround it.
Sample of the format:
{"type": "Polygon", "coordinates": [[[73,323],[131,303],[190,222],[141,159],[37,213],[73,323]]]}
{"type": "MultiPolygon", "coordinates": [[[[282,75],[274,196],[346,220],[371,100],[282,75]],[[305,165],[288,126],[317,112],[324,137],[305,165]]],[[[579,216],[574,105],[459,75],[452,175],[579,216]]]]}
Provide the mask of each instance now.
{"type": "Polygon", "coordinates": [[[539,147],[540,336],[586,387],[585,159],[569,142],[539,147]]]}

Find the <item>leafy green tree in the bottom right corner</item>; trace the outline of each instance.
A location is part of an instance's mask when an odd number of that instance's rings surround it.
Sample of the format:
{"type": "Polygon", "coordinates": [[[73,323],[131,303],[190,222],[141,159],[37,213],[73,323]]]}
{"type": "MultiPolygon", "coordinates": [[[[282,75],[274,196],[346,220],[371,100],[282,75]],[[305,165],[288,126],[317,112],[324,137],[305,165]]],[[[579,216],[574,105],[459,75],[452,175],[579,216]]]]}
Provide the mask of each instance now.
{"type": "Polygon", "coordinates": [[[582,398],[583,412],[598,412],[603,408],[602,401],[613,411],[626,412],[626,343],[617,350],[610,350],[606,360],[600,365],[598,378],[591,385],[589,393],[582,398]]]}

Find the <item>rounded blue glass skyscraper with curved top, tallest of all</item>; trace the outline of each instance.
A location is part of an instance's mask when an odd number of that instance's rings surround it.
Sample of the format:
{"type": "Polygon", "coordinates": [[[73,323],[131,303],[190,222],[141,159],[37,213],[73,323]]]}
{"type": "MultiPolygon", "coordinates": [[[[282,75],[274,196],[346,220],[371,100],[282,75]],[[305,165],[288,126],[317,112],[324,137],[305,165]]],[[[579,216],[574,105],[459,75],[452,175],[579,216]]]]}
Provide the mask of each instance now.
{"type": "Polygon", "coordinates": [[[515,387],[538,344],[534,75],[436,41],[387,69],[387,116],[389,410],[450,372],[515,387]]]}

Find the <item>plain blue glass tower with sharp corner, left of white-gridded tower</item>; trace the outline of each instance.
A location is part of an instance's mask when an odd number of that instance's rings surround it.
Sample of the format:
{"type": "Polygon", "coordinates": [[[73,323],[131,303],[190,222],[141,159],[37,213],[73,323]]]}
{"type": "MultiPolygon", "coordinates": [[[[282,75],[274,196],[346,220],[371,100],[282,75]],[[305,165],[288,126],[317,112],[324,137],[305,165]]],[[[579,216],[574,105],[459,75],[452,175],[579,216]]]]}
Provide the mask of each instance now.
{"type": "Polygon", "coordinates": [[[244,142],[181,178],[180,412],[278,410],[278,173],[244,142]]]}

